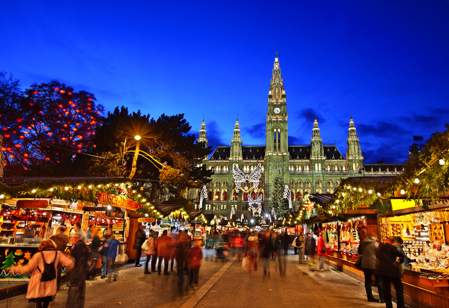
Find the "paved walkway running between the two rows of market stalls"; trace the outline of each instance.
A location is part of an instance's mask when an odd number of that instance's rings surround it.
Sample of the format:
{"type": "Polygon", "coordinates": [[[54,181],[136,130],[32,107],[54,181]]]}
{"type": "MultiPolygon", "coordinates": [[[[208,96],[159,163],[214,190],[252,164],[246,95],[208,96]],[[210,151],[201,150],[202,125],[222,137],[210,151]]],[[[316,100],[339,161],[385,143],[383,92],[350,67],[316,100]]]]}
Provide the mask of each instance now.
{"type": "MultiPolygon", "coordinates": [[[[292,254],[284,259],[285,278],[279,275],[278,262],[269,261],[270,279],[264,280],[260,261],[258,270],[250,277],[242,269],[241,261],[234,258],[217,262],[213,253],[204,251],[198,290],[193,295],[189,292],[186,275],[182,276],[180,284],[174,272],[167,277],[155,273],[145,275],[143,267],[128,266],[119,271],[116,282],[106,282],[99,277],[87,281],[85,307],[385,307],[385,304],[366,301],[364,285],[359,280],[333,269],[315,276],[306,265],[298,264],[297,256],[292,254]]],[[[64,287],[50,307],[65,307],[68,288],[64,287]]],[[[34,304],[28,303],[24,294],[0,300],[0,307],[31,308],[34,304]]]]}

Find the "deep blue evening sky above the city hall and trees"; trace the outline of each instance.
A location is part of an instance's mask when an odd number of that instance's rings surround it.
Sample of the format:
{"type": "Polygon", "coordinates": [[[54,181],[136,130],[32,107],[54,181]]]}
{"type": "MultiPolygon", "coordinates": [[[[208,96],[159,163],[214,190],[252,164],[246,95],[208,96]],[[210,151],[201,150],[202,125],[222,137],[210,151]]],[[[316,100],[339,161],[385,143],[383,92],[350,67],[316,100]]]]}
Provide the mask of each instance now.
{"type": "Polygon", "coordinates": [[[10,1],[0,70],[27,88],[52,79],[158,118],[184,113],[209,144],[265,143],[276,48],[289,143],[345,154],[349,118],[365,162],[404,162],[412,135],[449,122],[446,1],[10,1]]]}

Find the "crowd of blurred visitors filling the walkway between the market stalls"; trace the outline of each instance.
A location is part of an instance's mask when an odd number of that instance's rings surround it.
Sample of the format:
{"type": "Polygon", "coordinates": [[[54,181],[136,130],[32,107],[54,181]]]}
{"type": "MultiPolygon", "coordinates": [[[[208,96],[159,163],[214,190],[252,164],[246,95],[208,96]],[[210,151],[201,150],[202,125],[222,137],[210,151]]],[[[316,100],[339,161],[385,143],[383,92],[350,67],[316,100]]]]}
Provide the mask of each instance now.
{"type": "MultiPolygon", "coordinates": [[[[120,243],[112,233],[111,228],[104,231],[100,238],[95,235],[90,249],[86,245],[86,239],[92,238],[94,225],[89,226],[87,235],[81,229],[81,224],[73,226],[73,234],[68,237],[65,234],[65,226],[60,226],[55,235],[49,240],[43,241],[39,246],[39,253],[33,255],[25,266],[14,267],[17,273],[31,274],[26,298],[36,303],[37,308],[46,308],[54,299],[61,284],[62,266],[69,271],[70,282],[67,293],[67,308],[84,307],[86,297],[86,279],[92,279],[89,266],[96,264],[101,258],[101,279],[107,282],[117,281],[116,257],[120,254],[120,243]],[[67,244],[71,242],[70,256],[65,254],[67,244]],[[113,273],[110,275],[110,272],[113,273]],[[113,277],[113,278],[112,278],[113,277]]],[[[403,285],[398,274],[396,262],[403,262],[403,254],[399,246],[402,239],[395,237],[379,245],[376,234],[369,236],[360,242],[359,254],[361,255],[360,268],[365,276],[365,290],[368,301],[386,303],[387,308],[392,307],[391,283],[394,284],[398,299],[398,307],[404,307],[403,285]],[[397,260],[399,259],[399,260],[397,260]],[[402,260],[402,261],[401,261],[402,260]],[[379,297],[372,295],[372,276],[376,278],[379,297]]],[[[248,275],[253,276],[258,264],[262,263],[263,280],[270,279],[271,264],[275,265],[281,278],[285,278],[286,259],[288,246],[294,247],[294,254],[298,255],[299,264],[307,264],[309,270],[316,276],[319,271],[324,271],[324,256],[327,250],[323,232],[307,232],[298,234],[291,242],[286,230],[279,233],[274,230],[264,232],[250,232],[233,230],[231,232],[206,232],[204,235],[191,236],[189,230],[174,230],[168,233],[163,230],[160,235],[154,230],[149,231],[146,237],[143,225],[139,226],[133,248],[137,250],[135,267],[142,265],[140,257],[142,252],[146,255],[144,261],[144,274],[157,273],[168,276],[170,271],[178,278],[178,290],[183,292],[183,276],[188,275],[189,287],[194,293],[198,286],[199,270],[203,260],[202,249],[214,249],[217,260],[226,260],[228,257],[237,256],[242,260],[248,270],[248,275]],[[283,247],[282,247],[283,246],[283,247]],[[283,253],[281,253],[283,250],[283,253]],[[316,260],[318,267],[315,267],[316,260]],[[176,263],[175,263],[176,261],[176,263]],[[162,264],[164,263],[164,270],[162,264]],[[175,266],[176,265],[176,266],[175,266]]],[[[95,266],[91,266],[91,269],[95,266]]],[[[303,271],[303,275],[309,275],[303,271]]]]}

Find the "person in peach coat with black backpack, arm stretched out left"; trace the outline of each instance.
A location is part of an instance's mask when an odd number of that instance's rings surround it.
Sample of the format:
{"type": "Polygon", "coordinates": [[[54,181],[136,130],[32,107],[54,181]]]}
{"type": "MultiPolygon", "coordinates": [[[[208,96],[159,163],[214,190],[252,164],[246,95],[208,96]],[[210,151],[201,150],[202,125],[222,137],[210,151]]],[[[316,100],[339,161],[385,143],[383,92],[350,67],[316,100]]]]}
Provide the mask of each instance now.
{"type": "Polygon", "coordinates": [[[31,274],[28,282],[27,298],[36,303],[36,308],[47,308],[57,292],[56,267],[60,264],[70,270],[73,260],[56,250],[52,240],[45,240],[39,245],[38,253],[24,266],[12,267],[15,273],[31,274]]]}

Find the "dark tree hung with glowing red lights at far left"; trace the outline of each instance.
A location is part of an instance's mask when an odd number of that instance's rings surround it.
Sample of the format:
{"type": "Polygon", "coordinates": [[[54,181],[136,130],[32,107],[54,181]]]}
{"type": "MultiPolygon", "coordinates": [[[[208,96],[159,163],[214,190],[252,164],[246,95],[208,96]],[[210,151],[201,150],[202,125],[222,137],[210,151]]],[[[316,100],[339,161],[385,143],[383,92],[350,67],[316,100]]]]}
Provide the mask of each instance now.
{"type": "Polygon", "coordinates": [[[0,115],[6,168],[22,166],[29,170],[43,162],[57,166],[96,147],[95,129],[102,123],[97,123],[97,118],[103,107],[97,106],[95,97],[87,92],[72,92],[57,82],[52,84],[56,85],[53,93],[38,85],[28,90],[28,97],[19,106],[26,110],[23,114],[0,115]]]}

